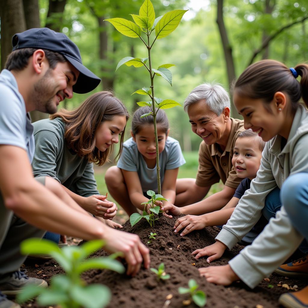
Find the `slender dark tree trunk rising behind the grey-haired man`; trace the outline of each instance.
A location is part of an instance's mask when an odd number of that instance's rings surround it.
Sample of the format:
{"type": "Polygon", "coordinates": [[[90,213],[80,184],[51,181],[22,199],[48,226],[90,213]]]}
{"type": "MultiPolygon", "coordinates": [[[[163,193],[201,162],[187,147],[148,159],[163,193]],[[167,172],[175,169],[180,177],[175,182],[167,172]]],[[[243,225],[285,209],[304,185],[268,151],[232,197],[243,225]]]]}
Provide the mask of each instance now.
{"type": "MultiPolygon", "coordinates": [[[[229,81],[229,90],[231,90],[231,86],[233,81],[236,78],[235,75],[235,67],[234,61],[232,56],[232,47],[229,43],[227,30],[225,28],[224,18],[223,18],[223,0],[217,0],[217,25],[221,37],[221,43],[225,54],[225,61],[227,66],[227,73],[228,73],[228,81],[229,81]]],[[[231,99],[232,100],[232,99],[231,99]]],[[[238,113],[231,102],[231,116],[234,118],[238,118],[238,113]]]]}

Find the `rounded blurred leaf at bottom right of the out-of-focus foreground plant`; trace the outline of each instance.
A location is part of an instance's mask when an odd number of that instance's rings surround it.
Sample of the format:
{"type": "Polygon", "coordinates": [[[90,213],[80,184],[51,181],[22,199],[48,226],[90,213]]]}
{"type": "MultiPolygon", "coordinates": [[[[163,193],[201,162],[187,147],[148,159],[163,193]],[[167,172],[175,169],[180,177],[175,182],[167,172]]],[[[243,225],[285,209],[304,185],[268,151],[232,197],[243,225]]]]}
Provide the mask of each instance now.
{"type": "Polygon", "coordinates": [[[84,308],[102,308],[111,300],[111,292],[108,287],[98,284],[90,286],[74,286],[71,290],[71,298],[74,298],[84,308]]]}

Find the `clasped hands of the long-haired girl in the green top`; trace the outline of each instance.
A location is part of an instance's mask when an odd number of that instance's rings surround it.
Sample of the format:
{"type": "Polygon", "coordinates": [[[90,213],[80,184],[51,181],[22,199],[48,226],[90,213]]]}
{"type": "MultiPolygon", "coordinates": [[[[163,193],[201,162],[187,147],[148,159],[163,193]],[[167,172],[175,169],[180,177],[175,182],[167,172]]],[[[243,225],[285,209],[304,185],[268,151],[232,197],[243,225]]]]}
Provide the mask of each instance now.
{"type": "Polygon", "coordinates": [[[112,220],[118,210],[115,203],[108,201],[106,196],[93,195],[86,197],[84,204],[83,208],[87,212],[104,219],[112,220]]]}

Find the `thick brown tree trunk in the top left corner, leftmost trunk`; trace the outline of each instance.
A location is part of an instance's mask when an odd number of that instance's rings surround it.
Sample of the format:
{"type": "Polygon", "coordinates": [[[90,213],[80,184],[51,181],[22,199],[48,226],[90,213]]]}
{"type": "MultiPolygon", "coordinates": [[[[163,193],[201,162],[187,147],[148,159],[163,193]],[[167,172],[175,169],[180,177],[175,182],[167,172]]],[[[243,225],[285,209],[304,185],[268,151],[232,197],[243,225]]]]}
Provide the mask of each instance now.
{"type": "Polygon", "coordinates": [[[2,0],[1,18],[1,69],[4,68],[7,56],[12,51],[12,37],[15,33],[26,30],[22,0],[2,0]]]}

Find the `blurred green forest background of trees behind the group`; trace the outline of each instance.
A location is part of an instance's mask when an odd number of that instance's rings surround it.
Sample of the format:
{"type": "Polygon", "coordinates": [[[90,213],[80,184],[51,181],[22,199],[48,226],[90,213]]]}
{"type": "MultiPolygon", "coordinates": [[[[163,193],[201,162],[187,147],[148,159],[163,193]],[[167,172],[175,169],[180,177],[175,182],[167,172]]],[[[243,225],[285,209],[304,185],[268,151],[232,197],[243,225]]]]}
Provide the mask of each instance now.
{"type": "MultiPolygon", "coordinates": [[[[307,0],[151,0],[156,16],[173,9],[191,9],[168,40],[158,40],[153,64],[174,63],[173,86],[156,80],[156,95],[180,103],[203,82],[227,89],[250,63],[276,59],[293,67],[307,61],[307,0]],[[197,6],[196,6],[197,5],[197,6]]],[[[2,0],[1,65],[11,50],[14,33],[47,26],[67,34],[79,47],[83,63],[102,78],[96,91],[113,89],[130,111],[138,95],[131,94],[147,79],[142,68],[115,67],[125,56],[147,57],[140,40],[122,36],[106,18],[138,14],[143,0],[2,0]]],[[[73,108],[89,94],[75,94],[61,107],[73,108]]],[[[171,136],[182,149],[197,150],[201,139],[191,132],[183,108],[166,111],[171,136]]],[[[237,117],[233,110],[233,116],[237,117]]],[[[129,125],[129,124],[128,124],[129,125]]],[[[129,129],[127,130],[129,131],[129,129]]]]}

